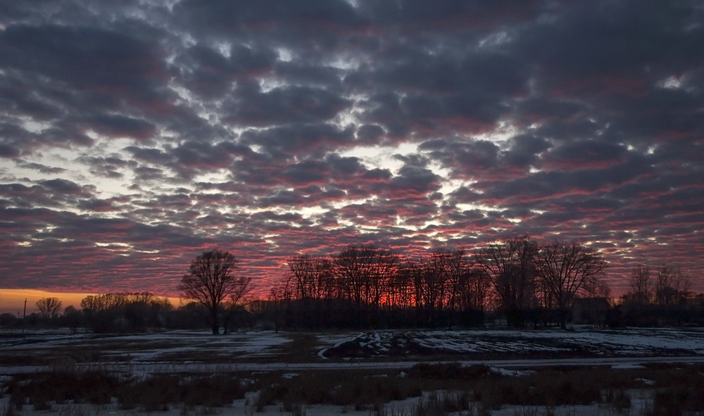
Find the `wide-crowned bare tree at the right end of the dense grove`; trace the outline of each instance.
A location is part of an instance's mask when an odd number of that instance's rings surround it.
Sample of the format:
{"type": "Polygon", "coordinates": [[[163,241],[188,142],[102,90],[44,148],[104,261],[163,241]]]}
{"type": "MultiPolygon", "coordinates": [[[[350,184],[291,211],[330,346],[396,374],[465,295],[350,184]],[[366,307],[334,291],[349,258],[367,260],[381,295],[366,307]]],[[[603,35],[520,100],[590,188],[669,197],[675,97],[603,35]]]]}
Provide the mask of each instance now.
{"type": "Polygon", "coordinates": [[[593,295],[598,279],[608,267],[601,254],[577,241],[541,244],[534,263],[545,296],[551,298],[562,313],[560,325],[567,326],[567,309],[579,294],[593,295]]]}

